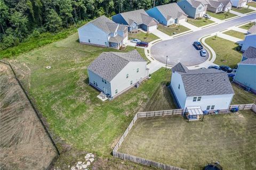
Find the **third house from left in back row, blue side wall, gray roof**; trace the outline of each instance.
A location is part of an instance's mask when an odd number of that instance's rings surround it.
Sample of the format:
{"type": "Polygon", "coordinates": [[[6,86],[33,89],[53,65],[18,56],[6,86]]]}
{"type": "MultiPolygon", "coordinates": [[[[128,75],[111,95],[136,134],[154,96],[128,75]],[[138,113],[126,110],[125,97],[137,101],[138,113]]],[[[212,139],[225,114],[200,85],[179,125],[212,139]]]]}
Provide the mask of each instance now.
{"type": "Polygon", "coordinates": [[[146,11],[150,17],[155,18],[164,26],[187,21],[188,15],[183,12],[177,3],[155,6],[146,11]]]}

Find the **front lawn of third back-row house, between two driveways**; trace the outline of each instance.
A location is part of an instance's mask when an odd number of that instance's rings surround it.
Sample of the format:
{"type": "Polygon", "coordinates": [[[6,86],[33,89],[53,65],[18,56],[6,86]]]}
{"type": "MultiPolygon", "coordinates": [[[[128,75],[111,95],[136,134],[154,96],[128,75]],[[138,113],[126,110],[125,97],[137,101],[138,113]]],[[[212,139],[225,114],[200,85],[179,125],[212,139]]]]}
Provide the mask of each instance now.
{"type": "Polygon", "coordinates": [[[190,30],[189,28],[187,27],[184,27],[184,26],[181,26],[181,25],[176,25],[174,27],[165,27],[161,24],[158,24],[158,28],[157,28],[159,31],[162,31],[164,34],[167,34],[169,36],[173,36],[176,34],[179,34],[179,33],[183,33],[185,31],[188,31],[190,30]]]}

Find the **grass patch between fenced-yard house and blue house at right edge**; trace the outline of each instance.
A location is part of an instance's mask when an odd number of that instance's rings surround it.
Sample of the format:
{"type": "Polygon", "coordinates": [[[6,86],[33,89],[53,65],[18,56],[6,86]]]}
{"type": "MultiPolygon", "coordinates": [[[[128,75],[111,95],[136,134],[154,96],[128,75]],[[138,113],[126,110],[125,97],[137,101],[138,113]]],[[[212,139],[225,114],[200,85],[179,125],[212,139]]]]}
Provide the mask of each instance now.
{"type": "Polygon", "coordinates": [[[256,95],[251,92],[246,92],[242,87],[239,87],[237,84],[232,83],[235,95],[231,104],[249,104],[256,103],[256,95]]]}

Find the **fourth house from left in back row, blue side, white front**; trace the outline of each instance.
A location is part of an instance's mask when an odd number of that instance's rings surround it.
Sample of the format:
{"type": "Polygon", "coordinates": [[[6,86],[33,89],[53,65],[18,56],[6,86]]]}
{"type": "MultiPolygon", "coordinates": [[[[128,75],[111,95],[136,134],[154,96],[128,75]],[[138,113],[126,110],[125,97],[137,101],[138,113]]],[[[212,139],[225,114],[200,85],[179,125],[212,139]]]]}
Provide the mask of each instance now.
{"type": "Polygon", "coordinates": [[[190,18],[203,17],[207,9],[207,5],[204,5],[204,3],[199,0],[181,0],[177,2],[177,4],[190,18]]]}

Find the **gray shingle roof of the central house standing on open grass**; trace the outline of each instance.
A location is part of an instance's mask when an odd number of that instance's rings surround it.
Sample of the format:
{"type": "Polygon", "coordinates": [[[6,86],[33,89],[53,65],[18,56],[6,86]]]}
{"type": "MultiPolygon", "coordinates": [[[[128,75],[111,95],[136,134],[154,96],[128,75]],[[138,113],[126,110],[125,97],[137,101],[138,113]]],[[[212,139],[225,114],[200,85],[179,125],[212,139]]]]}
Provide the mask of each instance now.
{"type": "Polygon", "coordinates": [[[132,61],[146,62],[137,50],[127,53],[103,52],[90,64],[88,69],[110,82],[132,61]]]}

